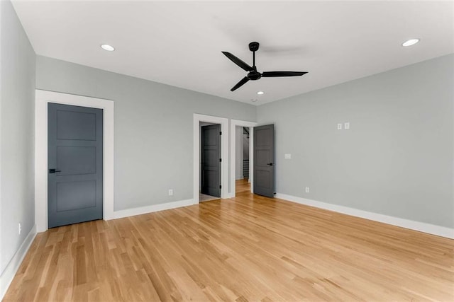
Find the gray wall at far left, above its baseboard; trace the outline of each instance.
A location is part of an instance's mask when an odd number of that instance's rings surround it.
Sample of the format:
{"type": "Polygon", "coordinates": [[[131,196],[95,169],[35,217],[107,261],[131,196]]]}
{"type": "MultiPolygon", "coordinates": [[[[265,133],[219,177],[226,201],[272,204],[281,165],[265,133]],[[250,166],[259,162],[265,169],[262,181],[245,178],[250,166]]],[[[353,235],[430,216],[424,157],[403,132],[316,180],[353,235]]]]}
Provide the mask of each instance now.
{"type": "Polygon", "coordinates": [[[1,274],[35,224],[35,52],[11,2],[0,11],[1,274]]]}

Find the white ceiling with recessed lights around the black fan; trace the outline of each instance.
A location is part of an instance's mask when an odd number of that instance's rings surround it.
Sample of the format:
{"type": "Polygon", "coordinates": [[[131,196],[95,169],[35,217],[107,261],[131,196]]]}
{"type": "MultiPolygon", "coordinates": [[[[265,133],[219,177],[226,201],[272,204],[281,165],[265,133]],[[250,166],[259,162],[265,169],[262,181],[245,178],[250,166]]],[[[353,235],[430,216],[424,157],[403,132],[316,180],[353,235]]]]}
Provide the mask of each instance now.
{"type": "Polygon", "coordinates": [[[261,105],[454,52],[453,1],[14,1],[37,54],[261,105]],[[411,37],[413,47],[402,47],[411,37]],[[221,51],[259,71],[249,81],[221,51]],[[115,52],[101,50],[107,43],[115,52]],[[265,91],[257,95],[257,91],[265,91]]]}

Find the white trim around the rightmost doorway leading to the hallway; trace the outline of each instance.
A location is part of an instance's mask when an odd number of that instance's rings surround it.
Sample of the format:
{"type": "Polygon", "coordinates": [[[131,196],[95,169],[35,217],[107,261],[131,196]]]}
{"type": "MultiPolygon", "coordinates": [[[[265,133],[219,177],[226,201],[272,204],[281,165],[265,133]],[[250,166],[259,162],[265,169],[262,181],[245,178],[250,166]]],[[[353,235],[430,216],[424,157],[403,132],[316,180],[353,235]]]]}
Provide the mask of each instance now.
{"type": "Polygon", "coordinates": [[[242,120],[230,120],[230,193],[228,198],[235,197],[235,175],[236,175],[236,126],[249,127],[249,182],[250,192],[254,192],[253,179],[254,179],[254,131],[253,128],[257,126],[256,122],[248,122],[242,120]]]}

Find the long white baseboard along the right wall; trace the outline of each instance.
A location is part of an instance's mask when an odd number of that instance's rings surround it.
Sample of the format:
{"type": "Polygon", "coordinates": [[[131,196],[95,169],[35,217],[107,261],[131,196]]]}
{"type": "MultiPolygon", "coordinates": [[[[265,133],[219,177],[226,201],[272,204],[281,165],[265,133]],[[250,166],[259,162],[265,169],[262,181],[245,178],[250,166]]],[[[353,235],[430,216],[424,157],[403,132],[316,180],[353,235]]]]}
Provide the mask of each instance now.
{"type": "Polygon", "coordinates": [[[372,213],[370,211],[362,211],[350,207],[343,207],[336,204],[328,204],[326,202],[317,202],[316,200],[305,199],[301,197],[291,196],[287,194],[277,193],[276,198],[285,199],[289,202],[296,202],[297,204],[305,204],[307,206],[336,211],[338,213],[357,216],[364,219],[379,221],[382,223],[392,224],[393,226],[400,226],[402,228],[409,228],[414,231],[429,233],[436,236],[454,239],[454,228],[446,228],[444,226],[436,226],[431,223],[413,221],[409,219],[402,219],[394,216],[387,216],[383,214],[372,213]]]}

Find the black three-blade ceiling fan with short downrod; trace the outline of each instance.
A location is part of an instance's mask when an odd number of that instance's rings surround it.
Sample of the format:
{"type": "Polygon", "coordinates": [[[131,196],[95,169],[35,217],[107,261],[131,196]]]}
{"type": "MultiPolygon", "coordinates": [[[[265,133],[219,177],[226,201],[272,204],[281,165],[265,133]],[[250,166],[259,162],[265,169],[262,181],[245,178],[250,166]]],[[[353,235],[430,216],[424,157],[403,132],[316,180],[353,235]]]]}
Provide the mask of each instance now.
{"type": "Polygon", "coordinates": [[[226,55],[226,57],[228,57],[228,59],[231,59],[233,63],[237,64],[245,71],[248,71],[248,75],[246,75],[243,79],[236,83],[236,85],[233,86],[230,91],[236,91],[238,88],[243,86],[249,80],[255,81],[260,78],[276,78],[278,76],[302,76],[304,74],[307,74],[307,72],[304,71],[265,71],[260,74],[260,72],[257,71],[257,66],[255,66],[255,52],[258,51],[259,46],[260,46],[259,42],[249,43],[249,50],[253,52],[253,66],[249,66],[241,59],[238,59],[238,57],[235,57],[230,52],[222,52],[223,54],[226,55]]]}

